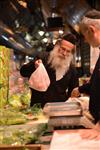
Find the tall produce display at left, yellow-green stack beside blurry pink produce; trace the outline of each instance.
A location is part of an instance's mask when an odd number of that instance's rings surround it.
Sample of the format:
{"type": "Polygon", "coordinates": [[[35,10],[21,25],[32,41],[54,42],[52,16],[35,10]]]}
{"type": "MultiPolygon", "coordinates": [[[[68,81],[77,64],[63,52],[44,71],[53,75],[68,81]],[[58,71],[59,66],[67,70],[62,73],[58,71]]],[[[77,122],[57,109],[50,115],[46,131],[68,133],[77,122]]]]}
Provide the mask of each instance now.
{"type": "Polygon", "coordinates": [[[0,108],[10,105],[14,109],[30,106],[30,90],[21,77],[14,51],[0,46],[0,108]]]}

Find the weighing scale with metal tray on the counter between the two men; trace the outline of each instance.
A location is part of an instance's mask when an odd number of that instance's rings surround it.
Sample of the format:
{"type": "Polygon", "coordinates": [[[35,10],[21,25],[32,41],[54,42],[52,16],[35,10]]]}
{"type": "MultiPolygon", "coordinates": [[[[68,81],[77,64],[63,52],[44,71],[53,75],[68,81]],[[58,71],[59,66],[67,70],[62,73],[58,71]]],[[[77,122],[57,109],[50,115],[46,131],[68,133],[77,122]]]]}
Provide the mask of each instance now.
{"type": "Polygon", "coordinates": [[[84,126],[93,128],[94,124],[83,115],[83,109],[79,102],[55,102],[47,103],[43,112],[49,117],[48,127],[84,126]]]}

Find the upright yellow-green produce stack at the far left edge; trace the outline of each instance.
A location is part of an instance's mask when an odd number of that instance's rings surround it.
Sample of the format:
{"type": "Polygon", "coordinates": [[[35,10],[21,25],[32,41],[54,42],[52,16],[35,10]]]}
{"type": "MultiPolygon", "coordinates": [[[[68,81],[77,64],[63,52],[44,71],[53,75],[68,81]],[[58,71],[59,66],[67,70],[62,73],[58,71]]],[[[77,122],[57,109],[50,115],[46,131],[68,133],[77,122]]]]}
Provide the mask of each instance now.
{"type": "Polygon", "coordinates": [[[0,46],[0,108],[7,103],[8,99],[9,60],[10,50],[5,46],[0,46]]]}

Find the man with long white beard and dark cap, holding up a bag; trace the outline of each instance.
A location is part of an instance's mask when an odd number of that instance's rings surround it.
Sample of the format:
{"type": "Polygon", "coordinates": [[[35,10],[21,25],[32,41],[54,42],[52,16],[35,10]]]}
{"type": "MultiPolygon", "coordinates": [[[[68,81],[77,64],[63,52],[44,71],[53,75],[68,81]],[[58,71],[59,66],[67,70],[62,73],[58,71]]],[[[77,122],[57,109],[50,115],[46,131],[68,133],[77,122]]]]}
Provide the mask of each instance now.
{"type": "Polygon", "coordinates": [[[73,88],[78,86],[77,72],[72,63],[75,43],[75,36],[67,34],[56,42],[52,51],[37,54],[33,61],[21,67],[21,75],[30,78],[42,62],[50,78],[46,91],[31,88],[31,106],[40,103],[43,107],[47,102],[64,102],[70,97],[73,88]]]}

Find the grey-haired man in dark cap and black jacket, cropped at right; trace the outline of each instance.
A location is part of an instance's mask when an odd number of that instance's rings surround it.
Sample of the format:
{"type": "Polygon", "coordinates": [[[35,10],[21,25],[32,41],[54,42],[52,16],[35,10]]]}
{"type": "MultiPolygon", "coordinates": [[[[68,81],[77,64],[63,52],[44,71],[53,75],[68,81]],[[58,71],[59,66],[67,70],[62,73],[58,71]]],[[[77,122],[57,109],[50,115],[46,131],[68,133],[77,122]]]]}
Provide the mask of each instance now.
{"type": "MultiPolygon", "coordinates": [[[[100,47],[100,12],[89,11],[80,22],[80,31],[91,46],[100,47]]],[[[95,119],[95,127],[82,133],[82,137],[100,139],[100,55],[90,82],[75,88],[71,96],[78,97],[80,93],[90,95],[89,110],[95,119]]]]}

